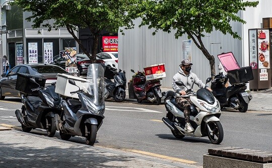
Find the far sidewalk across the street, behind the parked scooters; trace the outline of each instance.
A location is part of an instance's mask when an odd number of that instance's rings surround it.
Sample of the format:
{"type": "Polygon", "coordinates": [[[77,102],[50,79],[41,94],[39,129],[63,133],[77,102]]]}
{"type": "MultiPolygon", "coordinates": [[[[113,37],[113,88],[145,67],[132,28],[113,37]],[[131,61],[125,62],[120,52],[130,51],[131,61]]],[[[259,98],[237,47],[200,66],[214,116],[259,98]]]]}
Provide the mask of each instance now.
{"type": "MultiPolygon", "coordinates": [[[[172,88],[161,88],[162,92],[173,91],[172,88]]],[[[128,97],[128,89],[126,89],[126,98],[125,101],[128,102],[137,102],[136,99],[129,99],[128,97]]],[[[264,111],[264,112],[272,112],[272,89],[267,89],[258,92],[248,92],[248,94],[252,95],[252,100],[248,104],[247,111],[264,111]]],[[[162,98],[162,103],[164,102],[164,98],[162,98]]],[[[227,108],[224,111],[234,111],[235,109],[227,108]]]]}

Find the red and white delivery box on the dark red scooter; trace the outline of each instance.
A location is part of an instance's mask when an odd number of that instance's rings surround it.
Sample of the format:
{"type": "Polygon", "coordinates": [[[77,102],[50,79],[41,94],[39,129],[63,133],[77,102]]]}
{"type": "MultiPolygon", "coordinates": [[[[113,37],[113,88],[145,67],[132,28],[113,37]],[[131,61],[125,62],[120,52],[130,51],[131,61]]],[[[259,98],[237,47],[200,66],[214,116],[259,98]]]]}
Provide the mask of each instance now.
{"type": "Polygon", "coordinates": [[[147,80],[166,77],[164,63],[144,67],[144,70],[147,80]]]}

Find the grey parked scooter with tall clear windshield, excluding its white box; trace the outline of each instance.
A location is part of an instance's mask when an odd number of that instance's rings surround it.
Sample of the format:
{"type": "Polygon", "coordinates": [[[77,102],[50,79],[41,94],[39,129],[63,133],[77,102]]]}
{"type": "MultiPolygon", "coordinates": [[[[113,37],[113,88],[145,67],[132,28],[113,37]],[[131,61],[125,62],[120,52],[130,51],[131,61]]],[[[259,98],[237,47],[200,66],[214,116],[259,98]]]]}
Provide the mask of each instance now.
{"type": "MultiPolygon", "coordinates": [[[[69,78],[74,86],[76,82],[69,78]]],[[[63,140],[71,136],[86,137],[86,143],[94,145],[97,131],[102,125],[105,111],[105,98],[108,96],[104,84],[104,69],[101,64],[91,64],[87,72],[87,85],[83,89],[70,92],[78,94],[79,100],[72,98],[61,99],[63,109],[58,119],[59,134],[63,140]]]]}

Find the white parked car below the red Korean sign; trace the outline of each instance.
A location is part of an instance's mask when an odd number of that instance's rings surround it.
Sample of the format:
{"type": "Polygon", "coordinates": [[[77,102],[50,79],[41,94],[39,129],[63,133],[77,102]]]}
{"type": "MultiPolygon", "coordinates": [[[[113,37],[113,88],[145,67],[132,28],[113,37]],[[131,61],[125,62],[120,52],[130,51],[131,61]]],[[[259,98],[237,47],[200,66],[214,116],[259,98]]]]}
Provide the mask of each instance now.
{"type": "Polygon", "coordinates": [[[106,66],[113,67],[112,64],[114,64],[118,69],[118,52],[100,52],[96,54],[96,57],[105,61],[106,66]]]}

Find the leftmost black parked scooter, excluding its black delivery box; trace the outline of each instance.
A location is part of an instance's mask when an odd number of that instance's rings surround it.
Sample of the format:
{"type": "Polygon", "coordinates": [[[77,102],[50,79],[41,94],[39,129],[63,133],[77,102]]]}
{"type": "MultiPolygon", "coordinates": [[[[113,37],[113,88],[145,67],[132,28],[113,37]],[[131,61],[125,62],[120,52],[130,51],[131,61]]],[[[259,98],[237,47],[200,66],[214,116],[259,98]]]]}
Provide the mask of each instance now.
{"type": "Polygon", "coordinates": [[[29,78],[29,81],[39,86],[31,89],[32,92],[38,91],[38,95],[21,92],[24,105],[21,109],[15,111],[16,117],[22,124],[24,132],[41,128],[46,129],[47,135],[52,137],[56,132],[57,116],[61,112],[61,107],[59,106],[60,99],[54,92],[53,86],[43,89],[34,78],[29,78]]]}

